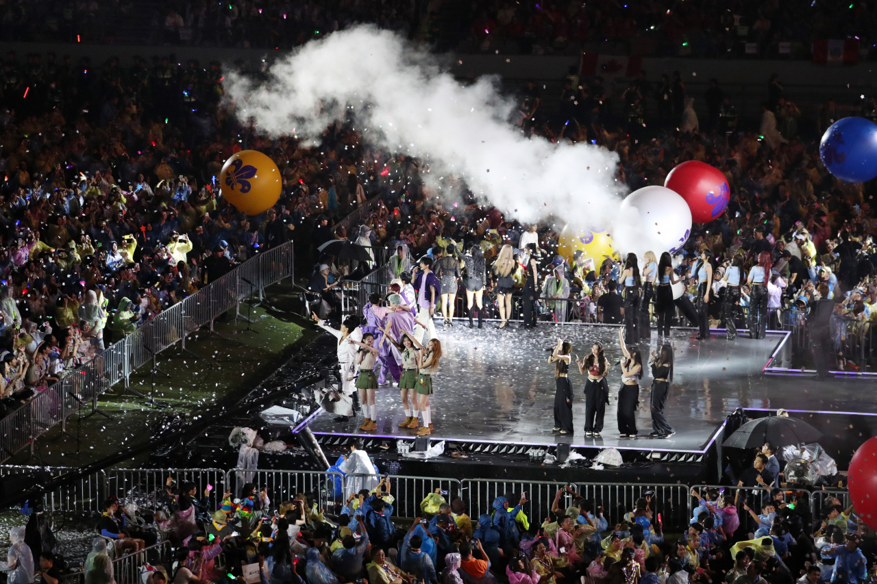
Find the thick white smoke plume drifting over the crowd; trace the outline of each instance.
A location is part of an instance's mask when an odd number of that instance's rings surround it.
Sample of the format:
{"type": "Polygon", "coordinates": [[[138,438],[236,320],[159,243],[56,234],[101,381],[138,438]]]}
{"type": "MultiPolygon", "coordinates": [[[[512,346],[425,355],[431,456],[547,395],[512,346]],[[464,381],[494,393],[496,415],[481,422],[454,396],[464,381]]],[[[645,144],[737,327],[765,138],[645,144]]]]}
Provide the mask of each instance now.
{"type": "Polygon", "coordinates": [[[496,78],[461,85],[392,32],[335,32],[267,73],[258,86],[239,75],[228,75],[225,86],[239,117],[270,135],[318,138],[353,113],[368,143],[423,158],[430,174],[460,176],[507,217],[554,215],[584,226],[611,224],[617,213],[624,186],[615,180],[615,153],[524,139],[509,122],[516,103],[500,95],[496,78]]]}

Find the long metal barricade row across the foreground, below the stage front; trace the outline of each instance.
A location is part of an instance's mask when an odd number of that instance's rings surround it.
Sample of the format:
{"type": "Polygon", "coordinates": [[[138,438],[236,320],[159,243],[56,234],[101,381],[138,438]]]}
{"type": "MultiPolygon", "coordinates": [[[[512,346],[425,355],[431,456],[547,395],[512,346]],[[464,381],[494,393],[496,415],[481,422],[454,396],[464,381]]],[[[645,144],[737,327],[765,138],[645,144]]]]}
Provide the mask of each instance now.
{"type": "MultiPolygon", "coordinates": [[[[15,474],[30,474],[34,480],[39,474],[47,473],[50,478],[74,469],[66,467],[39,466],[0,466],[0,477],[15,474]]],[[[267,489],[270,508],[279,509],[282,502],[289,501],[297,495],[305,495],[312,499],[318,509],[327,514],[338,515],[344,507],[348,489],[371,487],[384,475],[341,474],[331,471],[306,470],[270,470],[240,469],[223,470],[219,468],[118,468],[97,471],[82,476],[76,481],[43,495],[46,510],[53,511],[99,511],[103,501],[109,495],[118,496],[123,503],[135,503],[144,509],[158,509],[168,477],[173,477],[177,484],[183,481],[195,483],[199,495],[207,485],[212,485],[216,494],[216,502],[221,500],[225,490],[232,492],[232,497],[239,496],[244,483],[253,483],[257,488],[267,489]],[[374,481],[362,481],[370,478],[374,481]]],[[[679,529],[686,526],[691,518],[696,502],[691,497],[691,488],[685,484],[661,483],[599,483],[599,482],[564,482],[564,481],[526,481],[499,479],[455,479],[450,477],[424,477],[390,474],[390,493],[396,501],[393,503],[393,515],[403,519],[423,516],[420,504],[426,495],[437,489],[442,492],[447,502],[460,497],[467,504],[468,515],[477,518],[481,514],[493,512],[496,497],[510,496],[517,500],[526,493],[528,504],[527,516],[531,523],[539,523],[548,515],[555,494],[565,486],[571,486],[594,509],[602,508],[602,514],[611,524],[621,523],[623,515],[635,508],[641,497],[652,497],[652,509],[663,516],[667,529],[679,529]]],[[[714,486],[716,487],[716,486],[714,486]]],[[[708,487],[696,486],[703,493],[708,487]]],[[[744,500],[752,497],[769,496],[765,488],[724,487],[726,494],[743,491],[740,495],[744,500]]],[[[802,488],[807,491],[809,511],[813,519],[818,519],[825,512],[825,497],[834,495],[844,507],[850,505],[849,493],[845,489],[802,488]]],[[[799,493],[800,495],[800,493],[799,493]]],[[[799,496],[800,500],[800,496],[799,496]]],[[[567,501],[563,504],[567,505],[567,501]]],[[[738,504],[741,523],[747,521],[743,510],[743,502],[738,504]]],[[[743,523],[745,524],[745,523],[743,523]]],[[[148,549],[148,548],[147,548],[148,549]]]]}

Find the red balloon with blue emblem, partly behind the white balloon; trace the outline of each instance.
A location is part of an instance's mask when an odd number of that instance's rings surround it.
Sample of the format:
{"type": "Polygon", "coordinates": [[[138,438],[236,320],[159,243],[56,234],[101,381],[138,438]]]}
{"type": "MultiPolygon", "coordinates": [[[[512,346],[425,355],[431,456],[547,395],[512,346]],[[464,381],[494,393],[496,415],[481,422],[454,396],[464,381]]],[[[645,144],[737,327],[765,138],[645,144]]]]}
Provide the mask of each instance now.
{"type": "Polygon", "coordinates": [[[709,223],[721,215],[731,197],[722,171],[698,160],[682,162],[671,170],[664,186],[685,199],[695,223],[709,223]]]}

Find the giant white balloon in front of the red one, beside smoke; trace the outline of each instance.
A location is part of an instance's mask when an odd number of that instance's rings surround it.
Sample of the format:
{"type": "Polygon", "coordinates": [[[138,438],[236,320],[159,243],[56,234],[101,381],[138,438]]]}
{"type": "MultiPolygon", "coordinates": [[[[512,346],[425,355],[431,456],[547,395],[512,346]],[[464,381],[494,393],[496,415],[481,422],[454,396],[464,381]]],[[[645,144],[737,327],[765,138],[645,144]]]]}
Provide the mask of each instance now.
{"type": "MultiPolygon", "coordinates": [[[[619,216],[638,234],[639,245],[660,255],[681,249],[691,233],[691,210],[678,193],[666,187],[643,187],[633,191],[621,203],[619,216]],[[635,212],[634,212],[635,211],[635,212]]],[[[626,250],[625,250],[626,251],[626,250]]]]}

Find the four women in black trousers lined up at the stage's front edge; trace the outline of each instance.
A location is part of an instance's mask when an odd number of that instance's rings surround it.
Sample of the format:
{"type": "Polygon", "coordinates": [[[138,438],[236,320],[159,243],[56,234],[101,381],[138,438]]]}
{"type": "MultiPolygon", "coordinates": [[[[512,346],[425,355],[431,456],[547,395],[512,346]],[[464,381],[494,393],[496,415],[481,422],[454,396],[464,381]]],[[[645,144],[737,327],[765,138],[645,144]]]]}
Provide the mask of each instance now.
{"type": "MultiPolygon", "coordinates": [[[[628,348],[624,343],[624,329],[618,329],[624,359],[621,366],[621,388],[618,389],[618,432],[621,438],[635,438],[638,435],[636,411],[639,404],[639,380],[643,378],[643,360],[639,349],[634,345],[628,348]]],[[[569,380],[569,365],[573,359],[573,346],[569,341],[557,339],[549,363],[554,363],[554,377],[557,389],[554,394],[554,431],[572,434],[573,428],[573,384],[569,380]]],[[[609,361],[603,353],[602,344],[597,341],[591,345],[591,352],[582,361],[575,358],[579,374],[587,375],[585,381],[585,437],[601,438],[603,416],[609,403],[609,361]]],[[[664,407],[670,382],[673,381],[673,347],[660,345],[652,352],[652,438],[669,438],[675,431],[667,424],[664,407]]]]}

